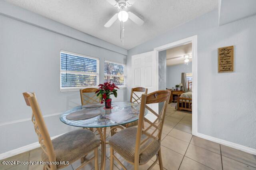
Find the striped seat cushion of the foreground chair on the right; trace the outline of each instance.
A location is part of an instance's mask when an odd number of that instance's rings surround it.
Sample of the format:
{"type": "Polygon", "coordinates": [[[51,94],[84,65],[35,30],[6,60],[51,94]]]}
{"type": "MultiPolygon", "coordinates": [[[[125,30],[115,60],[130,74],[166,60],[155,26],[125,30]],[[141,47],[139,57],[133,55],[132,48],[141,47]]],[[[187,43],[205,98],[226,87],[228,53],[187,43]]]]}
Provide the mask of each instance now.
{"type": "MultiPolygon", "coordinates": [[[[130,127],[116,133],[109,139],[110,146],[126,160],[134,163],[137,128],[130,127]]],[[[142,134],[141,141],[147,136],[142,134]]],[[[149,138],[140,146],[139,164],[148,162],[160,149],[160,141],[149,138]],[[152,143],[151,143],[152,142],[152,143]],[[150,146],[148,146],[150,145],[150,146]],[[148,146],[148,148],[146,148],[148,146]],[[146,149],[144,149],[146,148],[146,149]]]]}

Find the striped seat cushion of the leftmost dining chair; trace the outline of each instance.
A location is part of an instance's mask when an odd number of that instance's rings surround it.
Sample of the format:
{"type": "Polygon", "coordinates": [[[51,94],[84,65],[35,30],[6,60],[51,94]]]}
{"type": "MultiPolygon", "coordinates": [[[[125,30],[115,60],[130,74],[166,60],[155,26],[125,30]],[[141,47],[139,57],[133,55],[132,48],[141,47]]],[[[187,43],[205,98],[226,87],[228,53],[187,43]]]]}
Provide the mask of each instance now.
{"type": "MultiPolygon", "coordinates": [[[[100,140],[87,129],[78,129],[67,132],[52,140],[56,161],[69,161],[69,164],[80,159],[85,154],[100,146],[100,140]]],[[[48,156],[42,152],[42,160],[48,162],[48,156]]],[[[57,168],[66,165],[58,164],[57,168]]]]}

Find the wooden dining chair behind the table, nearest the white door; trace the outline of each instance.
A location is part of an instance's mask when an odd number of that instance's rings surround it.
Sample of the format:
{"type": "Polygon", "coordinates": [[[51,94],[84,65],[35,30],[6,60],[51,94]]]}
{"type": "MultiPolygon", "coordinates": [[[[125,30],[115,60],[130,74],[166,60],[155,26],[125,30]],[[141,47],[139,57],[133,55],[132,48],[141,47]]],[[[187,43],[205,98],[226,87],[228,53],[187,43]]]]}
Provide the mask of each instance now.
{"type": "MultiPolygon", "coordinates": [[[[138,103],[140,104],[141,102],[141,96],[139,97],[136,92],[139,92],[139,93],[144,93],[144,94],[148,94],[148,89],[144,88],[144,87],[135,87],[135,88],[132,88],[131,90],[131,96],[130,96],[130,102],[131,103],[138,103]]],[[[123,126],[128,128],[128,127],[134,127],[134,126],[137,126],[138,125],[138,121],[134,121],[134,122],[131,122],[131,123],[126,123],[124,124],[123,126]]]]}

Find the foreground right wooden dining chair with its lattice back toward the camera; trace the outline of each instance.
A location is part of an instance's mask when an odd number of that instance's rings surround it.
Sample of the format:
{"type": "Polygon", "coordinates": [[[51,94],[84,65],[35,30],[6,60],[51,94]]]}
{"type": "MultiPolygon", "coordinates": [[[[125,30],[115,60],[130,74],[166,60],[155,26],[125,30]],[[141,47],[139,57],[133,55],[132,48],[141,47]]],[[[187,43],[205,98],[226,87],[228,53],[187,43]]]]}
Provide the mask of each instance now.
{"type": "Polygon", "coordinates": [[[114,159],[126,170],[124,165],[114,155],[114,151],[133,164],[134,170],[139,170],[140,165],[146,164],[156,155],[156,160],[148,169],[151,169],[159,161],[160,170],[163,170],[160,146],[164,117],[170,94],[170,91],[160,90],[148,95],[142,95],[138,127],[129,127],[121,130],[109,139],[110,170],[113,170],[114,159]],[[164,103],[164,106],[159,114],[147,106],[148,104],[161,102],[164,103]],[[153,123],[144,117],[145,109],[148,109],[157,117],[153,123]],[[146,129],[142,128],[144,121],[149,123],[149,127],[146,129]]]}

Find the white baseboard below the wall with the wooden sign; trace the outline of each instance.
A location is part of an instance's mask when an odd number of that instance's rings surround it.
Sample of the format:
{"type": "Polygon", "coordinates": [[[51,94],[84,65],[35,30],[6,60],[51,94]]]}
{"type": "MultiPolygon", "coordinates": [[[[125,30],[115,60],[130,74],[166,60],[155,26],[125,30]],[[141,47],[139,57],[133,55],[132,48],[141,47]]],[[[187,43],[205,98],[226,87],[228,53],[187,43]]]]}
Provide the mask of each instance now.
{"type": "Polygon", "coordinates": [[[225,146],[229,146],[231,148],[242,150],[244,152],[256,155],[256,149],[254,149],[254,148],[249,148],[247,146],[243,146],[243,145],[240,145],[240,144],[236,144],[236,143],[233,143],[233,142],[228,142],[226,140],[222,140],[222,139],[219,139],[219,138],[214,138],[212,136],[208,136],[206,134],[202,134],[202,133],[198,133],[198,132],[196,134],[194,134],[194,135],[198,136],[200,138],[204,138],[206,140],[210,140],[212,142],[223,144],[225,146]]]}

